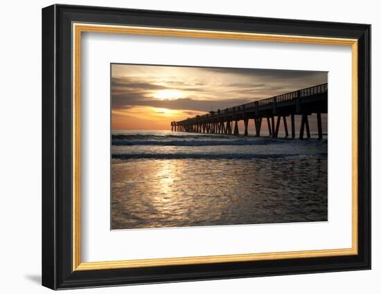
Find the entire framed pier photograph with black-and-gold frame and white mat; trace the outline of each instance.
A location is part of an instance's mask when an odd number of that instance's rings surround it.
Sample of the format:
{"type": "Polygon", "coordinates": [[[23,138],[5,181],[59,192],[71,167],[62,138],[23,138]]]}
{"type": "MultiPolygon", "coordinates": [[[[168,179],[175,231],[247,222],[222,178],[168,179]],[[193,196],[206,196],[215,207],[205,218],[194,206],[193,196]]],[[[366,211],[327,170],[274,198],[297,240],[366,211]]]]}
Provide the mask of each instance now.
{"type": "Polygon", "coordinates": [[[371,268],[371,26],[42,10],[42,284],[371,268]]]}

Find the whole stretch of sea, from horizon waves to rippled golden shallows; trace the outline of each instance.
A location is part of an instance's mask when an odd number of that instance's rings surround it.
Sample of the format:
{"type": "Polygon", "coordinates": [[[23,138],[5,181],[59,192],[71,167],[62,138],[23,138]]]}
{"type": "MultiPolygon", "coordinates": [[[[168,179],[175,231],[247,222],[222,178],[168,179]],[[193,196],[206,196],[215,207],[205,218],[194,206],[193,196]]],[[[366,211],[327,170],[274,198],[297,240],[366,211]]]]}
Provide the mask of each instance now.
{"type": "Polygon", "coordinates": [[[112,138],[112,229],[327,221],[327,201],[327,140],[112,138]]]}

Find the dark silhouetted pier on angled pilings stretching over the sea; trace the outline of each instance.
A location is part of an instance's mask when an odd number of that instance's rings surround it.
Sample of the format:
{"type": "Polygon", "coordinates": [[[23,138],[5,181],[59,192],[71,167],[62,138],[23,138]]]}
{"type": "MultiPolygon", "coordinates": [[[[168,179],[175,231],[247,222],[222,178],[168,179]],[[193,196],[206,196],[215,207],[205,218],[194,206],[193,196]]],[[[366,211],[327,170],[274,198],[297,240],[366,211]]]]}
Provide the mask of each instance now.
{"type": "Polygon", "coordinates": [[[257,100],[227,109],[210,111],[202,116],[187,118],[179,122],[171,122],[172,131],[186,131],[206,134],[240,135],[238,121],[243,120],[244,136],[248,135],[249,120],[254,120],[256,136],[260,136],[263,120],[267,120],[269,136],[278,138],[281,120],[285,136],[289,136],[286,116],[291,116],[291,138],[295,138],[295,116],[301,116],[299,138],[303,139],[304,131],[310,138],[308,116],[315,113],[319,139],[323,137],[321,113],[328,112],[328,84],[319,84],[310,88],[257,100]]]}

